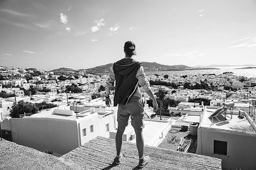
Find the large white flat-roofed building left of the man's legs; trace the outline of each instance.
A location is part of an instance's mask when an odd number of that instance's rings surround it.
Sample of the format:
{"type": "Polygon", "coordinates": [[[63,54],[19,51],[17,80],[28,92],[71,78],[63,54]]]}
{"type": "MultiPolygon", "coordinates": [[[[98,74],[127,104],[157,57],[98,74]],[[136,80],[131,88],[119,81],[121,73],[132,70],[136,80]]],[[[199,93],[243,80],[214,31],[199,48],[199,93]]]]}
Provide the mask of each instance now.
{"type": "Polygon", "coordinates": [[[109,138],[109,131],[116,128],[114,112],[86,110],[76,114],[66,106],[65,110],[51,109],[31,117],[11,118],[8,130],[12,131],[13,142],[19,145],[51,150],[61,156],[97,136],[109,138]]]}

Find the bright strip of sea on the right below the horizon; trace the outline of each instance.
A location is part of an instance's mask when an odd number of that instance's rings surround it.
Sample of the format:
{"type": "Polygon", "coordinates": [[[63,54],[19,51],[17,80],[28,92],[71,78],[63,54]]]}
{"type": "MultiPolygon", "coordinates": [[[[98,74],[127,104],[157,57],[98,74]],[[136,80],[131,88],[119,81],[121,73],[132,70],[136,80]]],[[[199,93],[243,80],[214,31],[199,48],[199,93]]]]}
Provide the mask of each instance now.
{"type": "MultiPolygon", "coordinates": [[[[244,67],[244,66],[243,66],[244,67]]],[[[247,78],[256,78],[256,69],[237,69],[242,68],[239,66],[232,66],[232,67],[216,67],[218,69],[202,69],[202,70],[186,70],[186,71],[147,71],[147,75],[152,74],[159,74],[164,75],[168,74],[168,76],[193,76],[193,75],[199,75],[199,74],[222,74],[225,72],[232,72],[236,76],[245,76],[247,78]]]]}

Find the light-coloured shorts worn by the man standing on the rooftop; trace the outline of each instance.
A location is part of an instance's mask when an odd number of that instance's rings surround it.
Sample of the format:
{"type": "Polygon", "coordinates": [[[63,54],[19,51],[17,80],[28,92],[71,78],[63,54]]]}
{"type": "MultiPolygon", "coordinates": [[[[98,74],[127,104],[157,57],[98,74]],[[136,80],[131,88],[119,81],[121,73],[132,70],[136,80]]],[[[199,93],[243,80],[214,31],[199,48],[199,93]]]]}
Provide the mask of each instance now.
{"type": "Polygon", "coordinates": [[[118,127],[125,128],[128,125],[130,116],[132,127],[134,129],[141,129],[144,127],[144,103],[140,97],[131,97],[126,105],[118,104],[118,127]]]}

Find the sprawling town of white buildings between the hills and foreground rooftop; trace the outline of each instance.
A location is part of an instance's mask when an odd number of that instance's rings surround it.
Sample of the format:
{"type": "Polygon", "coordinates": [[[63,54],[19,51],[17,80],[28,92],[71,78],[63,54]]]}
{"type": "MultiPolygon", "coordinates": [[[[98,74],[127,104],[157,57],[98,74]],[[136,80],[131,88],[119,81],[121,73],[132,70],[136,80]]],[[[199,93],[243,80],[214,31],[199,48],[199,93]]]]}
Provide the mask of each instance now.
{"type": "MultiPolygon", "coordinates": [[[[145,145],[216,157],[227,169],[255,168],[256,78],[232,72],[147,73],[159,110],[154,112],[152,101],[143,94],[145,145]],[[245,153],[246,148],[250,151],[245,153]]],[[[106,107],[104,102],[107,78],[108,73],[83,70],[70,73],[0,67],[4,139],[56,157],[68,157],[93,139],[115,139],[117,108],[106,107]]],[[[113,93],[114,89],[111,99],[113,93]]],[[[129,124],[123,141],[136,143],[135,138],[129,124]]]]}

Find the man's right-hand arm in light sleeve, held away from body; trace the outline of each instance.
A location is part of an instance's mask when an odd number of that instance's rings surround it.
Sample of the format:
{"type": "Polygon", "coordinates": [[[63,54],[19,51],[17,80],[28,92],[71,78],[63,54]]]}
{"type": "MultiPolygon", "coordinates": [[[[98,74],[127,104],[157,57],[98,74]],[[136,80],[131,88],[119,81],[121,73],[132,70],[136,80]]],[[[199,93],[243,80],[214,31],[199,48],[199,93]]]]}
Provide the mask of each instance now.
{"type": "Polygon", "coordinates": [[[154,96],[152,90],[150,89],[150,84],[146,78],[146,74],[144,73],[143,66],[140,66],[140,69],[138,69],[136,78],[138,79],[139,84],[143,89],[143,92],[146,92],[148,96],[152,99],[153,107],[154,107],[154,110],[156,111],[158,108],[156,97],[154,96]]]}

